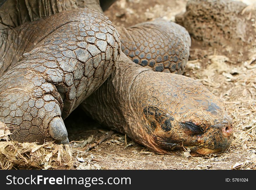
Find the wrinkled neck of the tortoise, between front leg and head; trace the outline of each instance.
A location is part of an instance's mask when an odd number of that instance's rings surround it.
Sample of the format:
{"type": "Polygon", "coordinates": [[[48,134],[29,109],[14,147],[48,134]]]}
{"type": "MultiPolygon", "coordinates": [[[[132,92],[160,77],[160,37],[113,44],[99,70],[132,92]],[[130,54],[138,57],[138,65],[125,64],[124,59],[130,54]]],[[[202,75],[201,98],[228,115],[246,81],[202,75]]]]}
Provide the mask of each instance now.
{"type": "Polygon", "coordinates": [[[138,117],[133,115],[136,105],[130,101],[130,97],[134,95],[131,89],[136,77],[148,71],[150,70],[134,64],[121,52],[115,71],[95,93],[81,104],[81,107],[100,123],[134,137],[136,133],[134,130],[138,127],[131,130],[131,125],[138,117]]]}

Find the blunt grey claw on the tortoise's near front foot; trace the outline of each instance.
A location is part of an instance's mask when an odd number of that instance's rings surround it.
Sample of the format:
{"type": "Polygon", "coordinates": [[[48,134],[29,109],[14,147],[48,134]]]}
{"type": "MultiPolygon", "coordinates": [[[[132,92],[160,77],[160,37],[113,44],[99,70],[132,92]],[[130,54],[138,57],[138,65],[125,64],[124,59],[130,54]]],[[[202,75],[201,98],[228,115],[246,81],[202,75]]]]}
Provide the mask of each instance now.
{"type": "Polygon", "coordinates": [[[49,134],[58,144],[68,144],[67,129],[61,117],[54,117],[49,123],[49,134]]]}

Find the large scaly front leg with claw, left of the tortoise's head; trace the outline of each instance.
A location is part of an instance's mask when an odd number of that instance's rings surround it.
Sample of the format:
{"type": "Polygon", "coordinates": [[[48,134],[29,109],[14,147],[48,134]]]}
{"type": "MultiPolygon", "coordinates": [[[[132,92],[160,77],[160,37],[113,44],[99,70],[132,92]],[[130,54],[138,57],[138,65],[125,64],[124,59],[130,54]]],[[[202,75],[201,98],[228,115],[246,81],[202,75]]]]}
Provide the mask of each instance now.
{"type": "Polygon", "coordinates": [[[11,128],[12,140],[68,143],[63,119],[111,74],[119,35],[91,9],[63,11],[29,25],[41,31],[32,30],[33,48],[0,78],[0,122],[11,128]]]}

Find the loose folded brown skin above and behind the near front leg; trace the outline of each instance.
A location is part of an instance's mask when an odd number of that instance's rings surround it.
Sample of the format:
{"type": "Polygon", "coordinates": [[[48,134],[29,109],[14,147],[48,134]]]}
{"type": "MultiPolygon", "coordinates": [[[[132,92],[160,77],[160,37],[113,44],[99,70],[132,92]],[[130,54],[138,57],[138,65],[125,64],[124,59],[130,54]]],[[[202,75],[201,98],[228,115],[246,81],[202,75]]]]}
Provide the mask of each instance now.
{"type": "MultiPolygon", "coordinates": [[[[92,8],[103,13],[99,0],[19,0],[7,1],[0,8],[0,77],[13,67],[19,57],[49,35],[51,23],[42,19],[65,10],[92,8]],[[40,21],[41,20],[41,21],[40,21]],[[30,23],[31,21],[38,21],[30,23]],[[45,31],[42,33],[42,31],[45,31]]],[[[54,27],[63,25],[58,22],[54,27]]]]}

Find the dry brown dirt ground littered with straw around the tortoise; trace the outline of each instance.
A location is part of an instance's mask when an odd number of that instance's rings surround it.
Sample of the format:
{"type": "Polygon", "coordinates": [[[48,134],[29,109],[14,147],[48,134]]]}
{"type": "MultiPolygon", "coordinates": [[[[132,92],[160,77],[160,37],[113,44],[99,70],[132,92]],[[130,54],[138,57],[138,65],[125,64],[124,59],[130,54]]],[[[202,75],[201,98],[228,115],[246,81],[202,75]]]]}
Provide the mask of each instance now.
{"type": "MultiPolygon", "coordinates": [[[[131,26],[158,17],[175,21],[175,15],[185,11],[187,1],[119,0],[106,10],[105,14],[117,26],[131,26]]],[[[244,1],[250,3],[254,0],[244,1]]],[[[252,26],[256,30],[256,23],[252,26]]],[[[230,60],[221,50],[198,49],[193,46],[192,40],[191,57],[184,75],[197,79],[225,102],[234,127],[234,140],[227,151],[204,157],[192,157],[186,150],[174,152],[173,155],[158,155],[133,142],[129,137],[116,132],[94,149],[84,151],[82,147],[95,142],[110,131],[84,117],[81,110],[77,109],[65,120],[69,139],[73,141],[71,150],[68,149],[72,151],[72,157],[75,160],[74,165],[73,162],[71,163],[71,168],[256,169],[255,49],[252,47],[248,50],[248,60],[239,62],[234,61],[235,56],[238,55],[233,55],[230,60]],[[198,56],[198,52],[201,52],[201,56],[198,56]]],[[[45,149],[52,148],[50,145],[44,147],[45,149]]],[[[40,156],[45,155],[46,160],[40,163],[42,165],[40,167],[51,168],[49,158],[58,151],[60,152],[60,148],[55,147],[53,153],[51,151],[40,153],[40,156]]],[[[56,159],[61,160],[59,152],[56,159]]],[[[30,158],[33,156],[30,153],[30,158]]],[[[27,164],[27,162],[24,163],[27,164]]]]}

